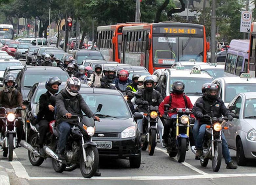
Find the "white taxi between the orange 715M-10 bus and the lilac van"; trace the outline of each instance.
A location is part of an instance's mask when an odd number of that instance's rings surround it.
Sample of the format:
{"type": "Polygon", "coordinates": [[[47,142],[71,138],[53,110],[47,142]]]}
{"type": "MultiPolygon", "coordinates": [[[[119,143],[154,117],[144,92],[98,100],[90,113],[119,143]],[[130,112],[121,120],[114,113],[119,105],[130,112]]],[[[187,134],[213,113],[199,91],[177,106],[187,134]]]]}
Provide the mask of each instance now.
{"type": "Polygon", "coordinates": [[[214,79],[225,76],[224,75],[225,65],[221,65],[217,63],[205,63],[205,64],[206,65],[202,65],[202,64],[195,65],[192,67],[192,69],[198,69],[198,70],[204,71],[208,73],[210,76],[212,76],[214,79]]]}

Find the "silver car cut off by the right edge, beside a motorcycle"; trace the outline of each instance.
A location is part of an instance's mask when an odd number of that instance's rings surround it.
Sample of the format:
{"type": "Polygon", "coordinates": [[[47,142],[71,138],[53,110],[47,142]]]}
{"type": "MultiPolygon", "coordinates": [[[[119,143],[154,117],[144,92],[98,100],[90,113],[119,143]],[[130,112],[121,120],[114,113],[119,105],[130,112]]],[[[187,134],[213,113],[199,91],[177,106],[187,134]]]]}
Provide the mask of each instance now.
{"type": "Polygon", "coordinates": [[[256,159],[256,93],[239,93],[228,104],[234,120],[228,122],[224,134],[229,148],[236,150],[238,165],[256,159]]]}

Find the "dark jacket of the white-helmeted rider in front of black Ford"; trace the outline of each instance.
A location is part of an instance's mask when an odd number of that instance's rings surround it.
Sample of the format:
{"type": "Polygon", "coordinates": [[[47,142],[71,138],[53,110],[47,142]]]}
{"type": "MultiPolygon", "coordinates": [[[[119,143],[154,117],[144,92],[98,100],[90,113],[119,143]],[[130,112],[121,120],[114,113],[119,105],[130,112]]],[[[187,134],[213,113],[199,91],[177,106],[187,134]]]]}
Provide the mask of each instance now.
{"type": "Polygon", "coordinates": [[[63,116],[66,113],[71,113],[72,115],[83,117],[82,111],[89,117],[93,117],[93,112],[90,110],[88,105],[85,103],[81,94],[76,96],[71,96],[66,89],[60,91],[56,97],[56,107],[57,107],[57,124],[62,121],[72,122],[71,119],[66,119],[63,116]]]}

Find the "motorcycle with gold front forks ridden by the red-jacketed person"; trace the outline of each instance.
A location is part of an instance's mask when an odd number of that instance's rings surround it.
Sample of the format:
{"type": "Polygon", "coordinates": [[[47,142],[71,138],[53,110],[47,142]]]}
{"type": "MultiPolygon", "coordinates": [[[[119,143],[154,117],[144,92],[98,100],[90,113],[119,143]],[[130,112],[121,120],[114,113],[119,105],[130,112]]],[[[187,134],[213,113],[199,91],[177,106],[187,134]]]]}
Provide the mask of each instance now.
{"type": "Polygon", "coordinates": [[[184,162],[186,157],[186,151],[189,146],[189,126],[191,122],[190,112],[191,109],[187,108],[175,108],[168,110],[170,105],[165,104],[166,111],[164,113],[168,115],[168,112],[176,112],[176,115],[172,119],[176,119],[176,125],[170,128],[168,135],[168,146],[166,147],[170,157],[176,157],[178,162],[184,162]],[[178,154],[178,155],[177,155],[178,154]]]}

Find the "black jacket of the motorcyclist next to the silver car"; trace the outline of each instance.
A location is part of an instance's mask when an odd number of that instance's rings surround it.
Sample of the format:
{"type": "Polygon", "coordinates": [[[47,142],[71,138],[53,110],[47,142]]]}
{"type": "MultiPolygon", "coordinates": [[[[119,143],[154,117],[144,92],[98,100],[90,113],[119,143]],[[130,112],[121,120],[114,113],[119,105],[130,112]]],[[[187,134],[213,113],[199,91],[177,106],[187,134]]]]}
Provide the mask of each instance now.
{"type": "Polygon", "coordinates": [[[193,106],[192,113],[195,115],[196,118],[199,119],[199,125],[202,124],[209,124],[209,120],[200,118],[199,112],[202,112],[203,115],[208,114],[211,117],[221,117],[222,115],[227,116],[230,111],[226,108],[224,102],[219,97],[215,101],[209,101],[205,96],[202,96],[197,99],[196,103],[193,106]],[[203,104],[203,109],[197,107],[197,103],[203,104]]]}

